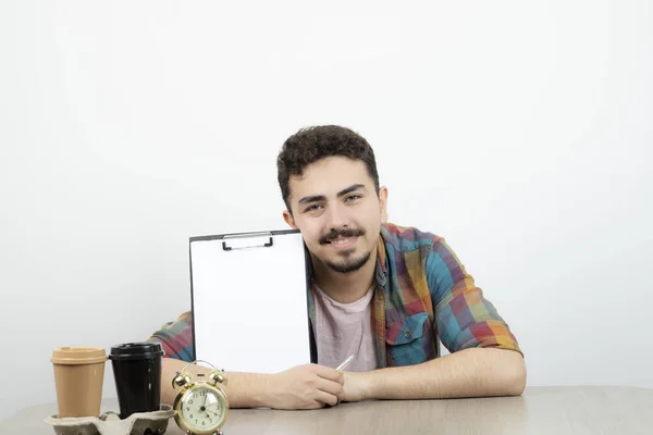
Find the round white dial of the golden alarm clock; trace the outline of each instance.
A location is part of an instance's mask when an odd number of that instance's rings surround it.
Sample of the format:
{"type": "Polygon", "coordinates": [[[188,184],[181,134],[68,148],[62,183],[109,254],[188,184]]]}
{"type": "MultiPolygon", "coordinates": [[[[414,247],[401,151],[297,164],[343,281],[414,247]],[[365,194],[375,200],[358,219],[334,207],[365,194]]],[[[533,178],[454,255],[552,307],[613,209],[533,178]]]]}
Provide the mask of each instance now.
{"type": "Polygon", "coordinates": [[[182,414],[190,427],[208,431],[223,423],[226,402],[213,388],[199,386],[184,395],[182,414]]]}

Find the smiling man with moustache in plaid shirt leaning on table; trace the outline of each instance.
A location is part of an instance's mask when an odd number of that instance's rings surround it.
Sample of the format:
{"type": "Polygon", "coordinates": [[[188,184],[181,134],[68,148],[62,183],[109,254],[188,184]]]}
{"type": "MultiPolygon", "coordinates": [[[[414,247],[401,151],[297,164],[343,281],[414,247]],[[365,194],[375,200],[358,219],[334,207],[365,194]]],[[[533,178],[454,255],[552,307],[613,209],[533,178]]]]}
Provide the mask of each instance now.
{"type": "MultiPolygon", "coordinates": [[[[367,140],[340,126],[297,132],[278,158],[285,222],[310,253],[308,315],[316,364],[230,373],[234,408],[308,409],[340,401],[520,395],[523,355],[445,241],[387,222],[367,140]],[[439,341],[451,355],[440,357],[439,341]],[[335,370],[354,355],[347,368],[335,370]]],[[[192,316],[160,340],[162,395],[193,358],[192,316]]],[[[195,372],[206,372],[194,364],[195,372]]]]}

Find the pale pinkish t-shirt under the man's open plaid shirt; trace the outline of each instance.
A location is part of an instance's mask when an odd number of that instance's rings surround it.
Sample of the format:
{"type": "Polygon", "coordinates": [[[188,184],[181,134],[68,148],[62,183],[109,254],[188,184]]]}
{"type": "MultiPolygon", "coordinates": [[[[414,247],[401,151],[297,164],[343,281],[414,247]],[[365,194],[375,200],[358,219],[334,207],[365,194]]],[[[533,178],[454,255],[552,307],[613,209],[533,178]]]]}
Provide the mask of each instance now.
{"type": "Polygon", "coordinates": [[[352,303],[331,299],[317,285],[315,289],[318,363],[335,369],[356,353],[343,371],[365,372],[378,369],[372,330],[374,286],[352,303]]]}

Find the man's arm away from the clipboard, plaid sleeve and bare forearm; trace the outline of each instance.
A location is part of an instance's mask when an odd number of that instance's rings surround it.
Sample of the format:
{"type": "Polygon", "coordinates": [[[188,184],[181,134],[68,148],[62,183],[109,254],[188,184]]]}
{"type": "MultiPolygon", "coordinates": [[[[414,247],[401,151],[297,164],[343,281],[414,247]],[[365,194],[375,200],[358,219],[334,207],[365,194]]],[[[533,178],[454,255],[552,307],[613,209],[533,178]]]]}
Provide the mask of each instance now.
{"type": "Polygon", "coordinates": [[[451,355],[416,365],[345,373],[343,400],[520,395],[526,364],[494,306],[439,237],[424,263],[434,330],[451,355]]]}

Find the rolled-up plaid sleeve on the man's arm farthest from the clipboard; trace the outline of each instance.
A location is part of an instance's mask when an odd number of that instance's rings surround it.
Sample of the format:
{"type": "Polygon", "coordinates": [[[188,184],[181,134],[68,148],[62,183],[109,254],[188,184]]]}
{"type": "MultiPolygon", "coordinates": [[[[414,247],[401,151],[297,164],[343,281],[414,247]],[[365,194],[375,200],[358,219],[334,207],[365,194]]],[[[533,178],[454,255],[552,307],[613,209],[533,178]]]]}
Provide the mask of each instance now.
{"type": "Polygon", "coordinates": [[[433,240],[426,273],[440,339],[449,352],[495,347],[523,356],[508,325],[442,238],[433,240]]]}

